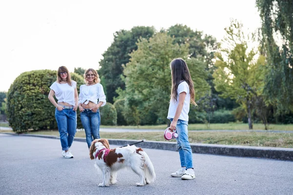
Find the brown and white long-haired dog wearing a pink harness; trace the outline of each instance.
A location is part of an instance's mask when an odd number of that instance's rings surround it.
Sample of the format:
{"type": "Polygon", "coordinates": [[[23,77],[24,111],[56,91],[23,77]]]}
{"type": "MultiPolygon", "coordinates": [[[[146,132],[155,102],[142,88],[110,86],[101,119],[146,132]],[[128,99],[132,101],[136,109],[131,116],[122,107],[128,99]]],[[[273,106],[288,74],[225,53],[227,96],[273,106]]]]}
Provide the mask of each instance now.
{"type": "Polygon", "coordinates": [[[117,171],[130,167],[139,177],[136,186],[144,186],[156,178],[154,166],[146,152],[134,145],[110,150],[107,139],[95,139],[89,148],[90,159],[96,159],[95,166],[103,173],[100,187],[116,183],[117,171]]]}

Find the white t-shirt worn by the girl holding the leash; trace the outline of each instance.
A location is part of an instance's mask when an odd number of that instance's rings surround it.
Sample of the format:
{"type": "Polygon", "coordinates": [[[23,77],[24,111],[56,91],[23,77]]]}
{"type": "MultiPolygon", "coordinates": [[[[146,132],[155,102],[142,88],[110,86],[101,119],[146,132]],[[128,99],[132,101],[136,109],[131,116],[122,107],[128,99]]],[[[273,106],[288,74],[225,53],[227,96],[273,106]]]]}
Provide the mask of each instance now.
{"type": "Polygon", "coordinates": [[[177,88],[177,101],[175,102],[175,99],[170,99],[170,104],[169,104],[169,110],[168,110],[168,116],[167,118],[174,118],[176,109],[178,106],[178,101],[179,101],[179,94],[182,92],[186,92],[186,97],[184,100],[183,108],[181,111],[181,114],[178,119],[180,120],[185,120],[188,121],[188,113],[189,113],[189,106],[190,106],[190,92],[189,92],[189,86],[186,81],[182,81],[177,88]]]}

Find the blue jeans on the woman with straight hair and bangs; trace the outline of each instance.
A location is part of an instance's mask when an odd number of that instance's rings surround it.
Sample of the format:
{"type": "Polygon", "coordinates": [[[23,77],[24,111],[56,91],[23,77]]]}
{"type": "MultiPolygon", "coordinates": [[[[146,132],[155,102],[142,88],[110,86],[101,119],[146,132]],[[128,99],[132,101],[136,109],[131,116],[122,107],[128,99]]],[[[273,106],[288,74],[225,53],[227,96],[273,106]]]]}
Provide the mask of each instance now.
{"type": "Polygon", "coordinates": [[[62,150],[68,150],[72,145],[77,126],[76,111],[72,109],[55,110],[55,118],[60,134],[62,150]]]}

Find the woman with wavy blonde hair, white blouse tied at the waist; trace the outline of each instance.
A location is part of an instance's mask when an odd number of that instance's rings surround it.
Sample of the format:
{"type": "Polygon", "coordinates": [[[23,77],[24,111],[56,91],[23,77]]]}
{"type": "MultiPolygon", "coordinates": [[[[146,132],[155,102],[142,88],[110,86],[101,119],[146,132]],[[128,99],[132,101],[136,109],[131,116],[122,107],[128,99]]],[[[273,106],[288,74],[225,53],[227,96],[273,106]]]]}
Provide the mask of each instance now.
{"type": "Polygon", "coordinates": [[[85,84],[80,87],[78,107],[81,111],[81,120],[89,148],[94,139],[100,138],[101,117],[99,108],[105,106],[106,96],[96,70],[92,68],[86,70],[84,81],[85,84]]]}

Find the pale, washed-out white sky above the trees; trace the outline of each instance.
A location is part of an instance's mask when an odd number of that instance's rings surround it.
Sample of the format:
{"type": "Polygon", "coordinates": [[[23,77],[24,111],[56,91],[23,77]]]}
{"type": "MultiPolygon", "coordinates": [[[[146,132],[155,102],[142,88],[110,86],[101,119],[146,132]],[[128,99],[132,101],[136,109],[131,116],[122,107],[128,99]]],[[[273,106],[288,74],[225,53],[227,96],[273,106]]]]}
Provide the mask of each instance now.
{"type": "Polygon", "coordinates": [[[183,24],[220,41],[231,18],[260,27],[255,0],[1,0],[0,91],[26,71],[97,69],[121,29],[183,24]]]}

